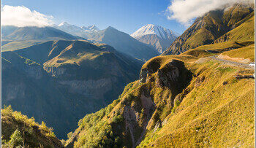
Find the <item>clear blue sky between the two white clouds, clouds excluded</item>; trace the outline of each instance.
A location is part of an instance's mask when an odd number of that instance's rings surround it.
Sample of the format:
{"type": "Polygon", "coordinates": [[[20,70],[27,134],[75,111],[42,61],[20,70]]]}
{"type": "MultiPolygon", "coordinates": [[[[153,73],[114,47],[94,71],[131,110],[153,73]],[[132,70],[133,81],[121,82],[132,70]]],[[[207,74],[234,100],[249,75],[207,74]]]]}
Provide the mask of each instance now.
{"type": "Polygon", "coordinates": [[[151,23],[182,34],[186,27],[167,20],[165,10],[170,0],[3,0],[2,6],[24,6],[45,15],[56,23],[67,21],[76,26],[95,24],[104,29],[113,26],[127,34],[151,23]]]}

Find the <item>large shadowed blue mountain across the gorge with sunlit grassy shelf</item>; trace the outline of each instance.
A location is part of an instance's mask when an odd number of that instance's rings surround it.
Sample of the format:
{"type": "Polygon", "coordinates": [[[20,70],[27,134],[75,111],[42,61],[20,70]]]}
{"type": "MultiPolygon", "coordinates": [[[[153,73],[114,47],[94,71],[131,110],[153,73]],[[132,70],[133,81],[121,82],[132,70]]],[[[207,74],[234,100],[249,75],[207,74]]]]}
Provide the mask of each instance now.
{"type": "Polygon", "coordinates": [[[118,98],[142,65],[107,44],[83,40],[49,41],[1,55],[2,105],[43,120],[61,139],[84,114],[118,98]]]}

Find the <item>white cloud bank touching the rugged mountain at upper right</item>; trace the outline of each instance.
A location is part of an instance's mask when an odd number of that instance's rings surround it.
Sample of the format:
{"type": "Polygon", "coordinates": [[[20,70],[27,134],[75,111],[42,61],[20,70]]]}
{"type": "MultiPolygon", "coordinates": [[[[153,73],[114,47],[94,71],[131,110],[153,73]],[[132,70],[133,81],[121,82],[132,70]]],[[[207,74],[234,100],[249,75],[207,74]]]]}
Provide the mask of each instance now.
{"type": "Polygon", "coordinates": [[[167,18],[178,20],[188,26],[192,19],[200,17],[215,9],[224,9],[236,3],[252,3],[254,0],[172,0],[167,7],[167,18]]]}

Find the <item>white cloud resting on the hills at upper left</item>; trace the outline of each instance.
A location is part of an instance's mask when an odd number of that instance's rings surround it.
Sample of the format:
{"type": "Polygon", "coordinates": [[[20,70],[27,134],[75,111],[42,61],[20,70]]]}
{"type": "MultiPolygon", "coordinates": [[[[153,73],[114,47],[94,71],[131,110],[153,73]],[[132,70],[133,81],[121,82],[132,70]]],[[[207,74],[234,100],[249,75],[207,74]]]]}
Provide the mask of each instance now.
{"type": "Polygon", "coordinates": [[[5,5],[1,9],[2,26],[37,26],[44,27],[53,24],[53,16],[43,15],[37,11],[31,11],[24,6],[8,6],[5,5]]]}

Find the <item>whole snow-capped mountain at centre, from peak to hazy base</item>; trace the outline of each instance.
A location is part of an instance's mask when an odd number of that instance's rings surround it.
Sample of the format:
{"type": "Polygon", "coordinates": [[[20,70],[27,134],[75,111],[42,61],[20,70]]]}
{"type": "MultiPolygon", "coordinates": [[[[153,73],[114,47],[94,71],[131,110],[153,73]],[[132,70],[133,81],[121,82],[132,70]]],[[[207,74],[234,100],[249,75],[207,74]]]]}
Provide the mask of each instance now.
{"type": "Polygon", "coordinates": [[[150,44],[158,52],[164,52],[167,47],[179,36],[176,32],[161,26],[148,24],[131,34],[132,37],[145,44],[150,44]]]}

